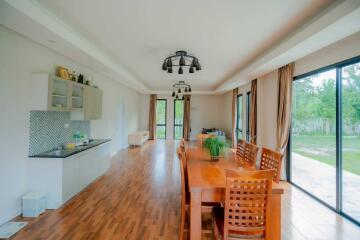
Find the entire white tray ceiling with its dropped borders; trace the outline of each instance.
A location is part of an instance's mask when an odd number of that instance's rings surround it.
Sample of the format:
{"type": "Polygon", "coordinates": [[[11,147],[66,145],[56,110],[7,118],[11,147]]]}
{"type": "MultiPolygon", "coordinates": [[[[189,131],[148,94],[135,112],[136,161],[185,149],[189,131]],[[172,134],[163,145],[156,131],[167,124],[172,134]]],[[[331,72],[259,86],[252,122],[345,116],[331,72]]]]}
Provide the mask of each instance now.
{"type": "Polygon", "coordinates": [[[359,32],[360,1],[0,0],[0,24],[141,93],[221,94],[359,32]],[[163,72],[179,49],[203,70],[163,72]]]}

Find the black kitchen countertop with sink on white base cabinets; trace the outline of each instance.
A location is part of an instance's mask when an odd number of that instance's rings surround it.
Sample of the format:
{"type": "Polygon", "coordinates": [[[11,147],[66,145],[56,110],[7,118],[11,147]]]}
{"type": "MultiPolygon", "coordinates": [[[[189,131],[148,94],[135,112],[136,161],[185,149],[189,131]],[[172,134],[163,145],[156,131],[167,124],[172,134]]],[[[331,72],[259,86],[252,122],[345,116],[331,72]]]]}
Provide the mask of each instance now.
{"type": "Polygon", "coordinates": [[[75,149],[72,150],[68,150],[68,149],[64,149],[64,150],[51,150],[51,151],[47,151],[47,152],[43,152],[43,153],[39,153],[36,155],[32,155],[29,156],[31,158],[67,158],[71,155],[77,154],[79,152],[88,150],[90,148],[99,146],[100,144],[106,143],[111,141],[111,139],[94,139],[92,142],[90,142],[87,145],[81,145],[81,146],[77,146],[75,147],[75,149]]]}

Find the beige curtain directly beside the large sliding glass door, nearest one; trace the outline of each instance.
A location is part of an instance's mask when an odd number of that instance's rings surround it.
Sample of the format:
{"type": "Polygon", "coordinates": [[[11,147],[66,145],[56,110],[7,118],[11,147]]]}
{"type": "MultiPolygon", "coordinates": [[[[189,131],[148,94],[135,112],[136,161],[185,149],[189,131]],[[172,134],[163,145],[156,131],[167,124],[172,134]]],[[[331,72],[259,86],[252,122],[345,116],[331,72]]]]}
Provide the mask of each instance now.
{"type": "MultiPolygon", "coordinates": [[[[279,68],[278,70],[278,112],[276,129],[276,149],[284,154],[289,142],[291,124],[291,93],[294,74],[294,63],[279,68]]],[[[286,178],[286,161],[283,161],[282,179],[286,178]]]]}

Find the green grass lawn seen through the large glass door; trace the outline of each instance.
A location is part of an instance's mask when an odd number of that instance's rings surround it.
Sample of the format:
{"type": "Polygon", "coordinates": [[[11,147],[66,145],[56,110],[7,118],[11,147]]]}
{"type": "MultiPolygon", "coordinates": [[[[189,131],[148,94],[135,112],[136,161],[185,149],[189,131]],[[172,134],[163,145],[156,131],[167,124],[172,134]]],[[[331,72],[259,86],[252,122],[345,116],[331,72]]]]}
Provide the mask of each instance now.
{"type": "MultiPolygon", "coordinates": [[[[360,137],[346,136],[342,145],[343,168],[360,175],[360,137]]],[[[295,153],[335,167],[335,136],[292,135],[291,147],[295,153]]]]}

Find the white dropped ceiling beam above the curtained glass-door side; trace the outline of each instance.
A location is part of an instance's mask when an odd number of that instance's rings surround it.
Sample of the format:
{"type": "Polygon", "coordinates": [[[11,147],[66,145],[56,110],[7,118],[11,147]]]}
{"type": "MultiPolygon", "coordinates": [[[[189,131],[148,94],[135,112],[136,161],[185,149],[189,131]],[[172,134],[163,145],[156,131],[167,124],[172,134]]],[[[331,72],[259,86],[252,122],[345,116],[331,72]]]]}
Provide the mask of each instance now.
{"type": "Polygon", "coordinates": [[[360,1],[337,1],[216,88],[226,92],[360,31],[360,1]]]}

